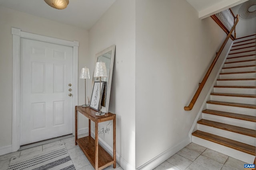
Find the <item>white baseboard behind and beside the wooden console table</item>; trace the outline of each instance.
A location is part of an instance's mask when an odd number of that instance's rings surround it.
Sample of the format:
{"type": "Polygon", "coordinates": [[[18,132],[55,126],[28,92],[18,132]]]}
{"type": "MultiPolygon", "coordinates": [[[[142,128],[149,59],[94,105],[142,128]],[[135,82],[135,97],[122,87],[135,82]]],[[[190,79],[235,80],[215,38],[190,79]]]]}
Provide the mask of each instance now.
{"type": "MultiPolygon", "coordinates": [[[[94,132],[91,132],[92,137],[95,137],[94,132]]],[[[99,144],[102,148],[104,148],[111,156],[113,156],[113,149],[112,147],[110,147],[105,141],[103,141],[103,139],[101,139],[100,137],[98,138],[99,144]]],[[[129,164],[128,162],[126,162],[126,160],[124,160],[124,158],[122,158],[120,156],[120,154],[118,154],[116,152],[116,162],[124,169],[124,170],[135,170],[135,167],[133,167],[131,164],[129,164]]]]}

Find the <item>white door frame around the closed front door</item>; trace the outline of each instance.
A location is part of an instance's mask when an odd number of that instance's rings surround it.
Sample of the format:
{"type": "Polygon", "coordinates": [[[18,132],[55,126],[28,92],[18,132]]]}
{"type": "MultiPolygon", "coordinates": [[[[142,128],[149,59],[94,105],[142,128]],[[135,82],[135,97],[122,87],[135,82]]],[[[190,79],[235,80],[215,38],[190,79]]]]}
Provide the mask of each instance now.
{"type": "MultiPolygon", "coordinates": [[[[73,47],[73,108],[78,104],[78,41],[67,41],[27,33],[17,28],[12,28],[12,152],[20,149],[20,38],[43,41],[58,45],[73,47]]],[[[72,111],[72,132],[75,133],[75,110],[72,111]]]]}

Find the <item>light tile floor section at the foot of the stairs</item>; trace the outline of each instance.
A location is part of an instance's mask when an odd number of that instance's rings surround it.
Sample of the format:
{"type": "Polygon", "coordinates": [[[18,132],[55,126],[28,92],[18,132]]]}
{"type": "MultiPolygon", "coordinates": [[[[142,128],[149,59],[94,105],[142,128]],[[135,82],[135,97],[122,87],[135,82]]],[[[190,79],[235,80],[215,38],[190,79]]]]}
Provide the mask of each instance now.
{"type": "Polygon", "coordinates": [[[190,143],[154,170],[244,170],[245,162],[190,143]]]}

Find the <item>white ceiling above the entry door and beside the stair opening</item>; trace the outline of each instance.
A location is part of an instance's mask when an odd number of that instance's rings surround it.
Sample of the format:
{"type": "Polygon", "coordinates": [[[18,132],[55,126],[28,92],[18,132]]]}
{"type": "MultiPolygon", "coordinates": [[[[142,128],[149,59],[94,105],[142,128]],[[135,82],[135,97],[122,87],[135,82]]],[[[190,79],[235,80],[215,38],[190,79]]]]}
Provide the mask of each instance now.
{"type": "MultiPolygon", "coordinates": [[[[55,20],[69,25],[90,29],[116,0],[69,0],[68,7],[57,10],[44,0],[0,0],[0,6],[55,20]]],[[[203,19],[226,8],[231,8],[247,0],[186,0],[203,19]]]]}

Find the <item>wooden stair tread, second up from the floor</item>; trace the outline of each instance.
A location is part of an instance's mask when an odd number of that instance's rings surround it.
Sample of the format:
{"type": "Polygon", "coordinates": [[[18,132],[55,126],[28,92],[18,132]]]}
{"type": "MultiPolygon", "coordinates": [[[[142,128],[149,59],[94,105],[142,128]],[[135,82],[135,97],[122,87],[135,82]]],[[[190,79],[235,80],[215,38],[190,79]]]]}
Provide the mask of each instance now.
{"type": "Polygon", "coordinates": [[[225,131],[239,133],[241,135],[256,137],[256,131],[253,130],[253,129],[247,129],[247,128],[244,128],[244,127],[228,125],[228,124],[225,124],[225,123],[220,123],[220,122],[210,121],[210,120],[205,120],[205,119],[201,119],[201,120],[197,121],[197,123],[201,124],[201,125],[206,125],[206,126],[222,129],[222,130],[225,130],[225,131]]]}

